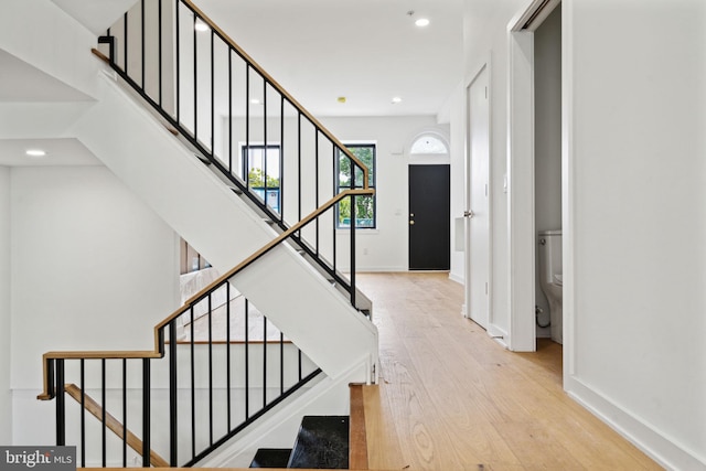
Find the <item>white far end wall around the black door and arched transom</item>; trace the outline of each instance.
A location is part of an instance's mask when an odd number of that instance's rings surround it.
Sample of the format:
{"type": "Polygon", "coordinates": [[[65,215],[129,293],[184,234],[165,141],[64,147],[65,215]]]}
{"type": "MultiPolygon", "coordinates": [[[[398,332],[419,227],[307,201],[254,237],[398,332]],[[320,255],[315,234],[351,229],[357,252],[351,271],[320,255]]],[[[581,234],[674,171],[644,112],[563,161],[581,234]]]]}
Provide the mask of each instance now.
{"type": "MultiPolygon", "coordinates": [[[[448,125],[432,116],[323,118],[322,122],[343,143],[376,142],[375,229],[356,235],[359,271],[407,271],[409,234],[408,165],[409,147],[424,131],[435,131],[449,140],[448,125]]],[[[448,163],[448,158],[439,163],[448,163]]],[[[347,232],[341,232],[341,247],[347,247],[347,232]]],[[[347,249],[343,248],[343,253],[347,249]]]]}

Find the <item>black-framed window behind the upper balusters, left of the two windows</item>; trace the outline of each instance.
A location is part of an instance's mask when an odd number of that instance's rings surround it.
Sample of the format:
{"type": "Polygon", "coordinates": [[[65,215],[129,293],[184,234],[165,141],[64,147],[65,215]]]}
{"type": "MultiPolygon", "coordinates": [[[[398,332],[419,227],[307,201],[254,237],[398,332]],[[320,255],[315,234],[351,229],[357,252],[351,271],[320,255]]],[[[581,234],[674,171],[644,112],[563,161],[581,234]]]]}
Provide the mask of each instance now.
{"type": "Polygon", "coordinates": [[[247,184],[269,207],[280,208],[280,149],[279,144],[243,146],[243,167],[247,184]]]}

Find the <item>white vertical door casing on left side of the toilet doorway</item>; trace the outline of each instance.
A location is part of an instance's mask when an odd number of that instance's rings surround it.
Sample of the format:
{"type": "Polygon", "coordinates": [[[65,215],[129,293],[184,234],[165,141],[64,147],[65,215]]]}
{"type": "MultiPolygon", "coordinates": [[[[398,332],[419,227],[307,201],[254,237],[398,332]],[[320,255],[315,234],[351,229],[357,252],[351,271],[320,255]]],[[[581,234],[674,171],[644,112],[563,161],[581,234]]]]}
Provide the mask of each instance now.
{"type": "Polygon", "coordinates": [[[507,26],[507,240],[510,350],[534,352],[534,33],[507,26]]]}

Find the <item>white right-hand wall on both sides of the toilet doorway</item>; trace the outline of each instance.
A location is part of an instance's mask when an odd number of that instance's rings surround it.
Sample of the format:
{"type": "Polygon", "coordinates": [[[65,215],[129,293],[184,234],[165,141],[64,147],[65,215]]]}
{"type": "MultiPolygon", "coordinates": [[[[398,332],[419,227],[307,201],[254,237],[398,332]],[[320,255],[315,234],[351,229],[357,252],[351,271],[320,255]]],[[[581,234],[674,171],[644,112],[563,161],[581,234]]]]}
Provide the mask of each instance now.
{"type": "MultiPolygon", "coordinates": [[[[492,57],[495,189],[507,25],[530,3],[466,1],[467,78],[492,57]]],[[[564,0],[563,23],[565,388],[666,468],[706,469],[706,3],[564,0]]],[[[495,313],[505,207],[493,192],[495,313]]]]}

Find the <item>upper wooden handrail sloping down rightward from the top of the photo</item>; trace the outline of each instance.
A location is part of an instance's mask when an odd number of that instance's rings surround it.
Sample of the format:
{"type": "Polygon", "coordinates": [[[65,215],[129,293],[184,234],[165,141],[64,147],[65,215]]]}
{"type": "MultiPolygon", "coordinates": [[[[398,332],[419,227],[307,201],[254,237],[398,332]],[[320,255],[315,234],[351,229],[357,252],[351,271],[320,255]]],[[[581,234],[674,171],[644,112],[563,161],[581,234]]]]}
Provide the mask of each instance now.
{"type": "Polygon", "coordinates": [[[367,178],[370,172],[367,165],[363,163],[357,157],[355,157],[353,152],[351,152],[335,136],[333,136],[331,131],[329,131],[317,118],[314,118],[311,113],[307,111],[307,109],[299,101],[297,101],[297,99],[291,96],[285,89],[285,87],[282,87],[275,78],[272,78],[267,72],[265,72],[265,69],[257,62],[255,62],[255,60],[250,57],[248,53],[246,53],[235,41],[233,41],[233,39],[228,36],[225,31],[218,28],[218,25],[214,23],[213,20],[211,20],[203,11],[201,11],[199,7],[193,4],[191,0],[181,1],[186,7],[189,7],[189,9],[201,19],[201,21],[206,23],[208,28],[211,28],[211,30],[213,30],[224,42],[233,47],[240,55],[240,57],[243,57],[248,64],[250,64],[253,68],[255,68],[257,73],[263,76],[263,78],[269,82],[269,84],[272,85],[272,87],[275,87],[277,92],[282,94],[287,98],[287,100],[291,103],[302,115],[304,115],[314,127],[317,127],[327,138],[329,138],[331,142],[333,142],[339,149],[341,149],[347,158],[353,160],[353,162],[355,162],[355,164],[361,168],[361,170],[363,170],[363,189],[367,190],[367,178]]]}

